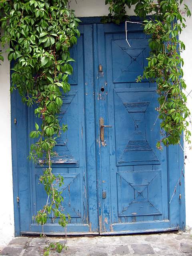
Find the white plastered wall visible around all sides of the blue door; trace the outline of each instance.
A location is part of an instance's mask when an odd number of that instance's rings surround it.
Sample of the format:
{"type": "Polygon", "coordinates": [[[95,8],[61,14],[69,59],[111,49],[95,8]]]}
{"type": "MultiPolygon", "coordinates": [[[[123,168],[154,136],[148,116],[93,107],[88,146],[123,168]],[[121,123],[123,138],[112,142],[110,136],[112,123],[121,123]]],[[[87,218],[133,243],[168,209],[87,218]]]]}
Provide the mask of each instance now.
{"type": "MultiPolygon", "coordinates": [[[[191,0],[185,0],[192,10],[191,0]]],[[[108,7],[104,0],[75,0],[71,1],[70,8],[76,10],[76,15],[102,16],[108,14],[108,7]],[[85,8],[86,6],[86,8],[85,8]]],[[[134,15],[133,10],[128,11],[134,15]]],[[[191,83],[191,60],[192,60],[192,18],[187,19],[187,28],[181,36],[186,44],[186,51],[182,53],[184,58],[184,78],[188,85],[187,92],[192,90],[191,83]]],[[[0,246],[8,243],[14,236],[13,215],[13,193],[12,193],[12,160],[11,160],[11,130],[10,130],[10,66],[6,61],[0,66],[0,156],[1,156],[1,179],[0,179],[0,246]]],[[[192,93],[188,96],[188,106],[192,112],[192,93]]],[[[187,148],[188,160],[186,161],[186,224],[192,227],[192,204],[191,204],[191,182],[192,182],[192,150],[187,148]],[[190,160],[191,159],[191,160],[190,160]]]]}

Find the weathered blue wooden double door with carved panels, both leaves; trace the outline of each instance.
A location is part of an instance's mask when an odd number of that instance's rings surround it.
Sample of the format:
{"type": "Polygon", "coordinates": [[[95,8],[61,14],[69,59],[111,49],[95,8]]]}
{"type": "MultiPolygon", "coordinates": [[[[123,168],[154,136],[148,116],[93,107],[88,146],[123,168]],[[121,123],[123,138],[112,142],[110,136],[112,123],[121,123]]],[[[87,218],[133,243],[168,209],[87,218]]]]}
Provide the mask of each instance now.
{"type": "MultiPolygon", "coordinates": [[[[68,131],[57,139],[53,171],[64,177],[62,207],[71,219],[68,234],[121,234],[179,228],[176,191],[180,160],[178,147],[156,148],[160,122],[156,84],[142,74],[149,55],[148,38],[139,25],[80,25],[80,38],[71,49],[76,60],[63,95],[60,124],[68,131]],[[109,126],[109,127],[104,127],[109,126]]],[[[33,141],[34,109],[13,96],[17,109],[19,220],[22,234],[41,233],[32,219],[46,204],[43,167],[26,160],[33,141]]],[[[16,110],[13,110],[13,112],[16,110]]],[[[50,214],[46,234],[64,234],[50,214]]]]}

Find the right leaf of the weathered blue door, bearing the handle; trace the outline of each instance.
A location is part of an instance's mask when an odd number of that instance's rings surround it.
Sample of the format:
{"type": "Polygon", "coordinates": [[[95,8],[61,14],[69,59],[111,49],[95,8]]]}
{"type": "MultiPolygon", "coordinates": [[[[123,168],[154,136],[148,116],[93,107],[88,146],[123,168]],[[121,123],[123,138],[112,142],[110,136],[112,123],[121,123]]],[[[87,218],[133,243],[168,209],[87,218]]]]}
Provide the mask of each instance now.
{"type": "Polygon", "coordinates": [[[103,234],[178,228],[178,217],[170,216],[179,204],[169,204],[168,150],[156,148],[161,139],[156,84],[136,82],[147,64],[148,38],[134,28],[138,32],[128,31],[130,48],[123,25],[118,32],[116,25],[98,25],[98,63],[104,70],[98,76],[97,113],[112,126],[98,146],[100,193],[107,195],[99,198],[103,234]]]}

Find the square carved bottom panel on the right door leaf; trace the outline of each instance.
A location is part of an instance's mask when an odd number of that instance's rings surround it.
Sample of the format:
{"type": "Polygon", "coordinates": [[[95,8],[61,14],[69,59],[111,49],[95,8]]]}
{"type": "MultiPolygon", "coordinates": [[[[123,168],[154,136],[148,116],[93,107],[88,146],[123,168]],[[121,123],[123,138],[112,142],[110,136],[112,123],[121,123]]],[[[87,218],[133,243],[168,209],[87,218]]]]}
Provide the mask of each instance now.
{"type": "Polygon", "coordinates": [[[118,216],[162,214],[160,170],[118,172],[117,181],[118,216]]]}

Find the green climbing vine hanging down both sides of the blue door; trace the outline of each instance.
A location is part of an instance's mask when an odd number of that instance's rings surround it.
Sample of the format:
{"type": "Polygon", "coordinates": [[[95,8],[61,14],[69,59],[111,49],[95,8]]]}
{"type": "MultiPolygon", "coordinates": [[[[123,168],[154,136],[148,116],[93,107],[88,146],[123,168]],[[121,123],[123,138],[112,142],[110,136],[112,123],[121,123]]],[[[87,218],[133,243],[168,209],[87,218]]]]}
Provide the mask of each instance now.
{"type": "MultiPolygon", "coordinates": [[[[185,49],[179,40],[179,34],[185,28],[184,15],[190,16],[183,0],[106,0],[110,14],[102,22],[120,24],[128,20],[126,7],[135,6],[135,13],[142,18],[144,32],[150,35],[151,48],[148,66],[144,73],[136,78],[150,79],[157,83],[159,94],[158,118],[162,128],[162,144],[177,144],[184,133],[190,142],[187,118],[190,112],[186,106],[183,89],[183,60],[179,51],[185,49]],[[146,16],[150,15],[150,18],[146,16]]],[[[74,12],[67,0],[0,0],[1,45],[8,44],[8,60],[13,62],[12,86],[22,96],[28,106],[35,104],[35,115],[41,124],[35,124],[30,137],[36,140],[31,145],[29,159],[45,166],[40,182],[44,184],[47,202],[34,216],[42,227],[52,214],[53,220],[59,218],[59,224],[65,227],[67,218],[62,208],[62,192],[59,187],[63,177],[52,172],[52,156],[55,156],[56,138],[67,130],[67,125],[60,127],[58,114],[62,106],[62,94],[70,90],[68,76],[72,74],[69,48],[76,44],[79,36],[78,24],[74,12]],[[42,160],[44,159],[44,160],[42,160]],[[40,160],[40,162],[39,162],[40,160]]],[[[3,60],[0,52],[0,60],[3,60]]],[[[65,247],[65,245],[64,245],[65,247]]],[[[51,244],[49,250],[62,250],[60,244],[51,244]]]]}

